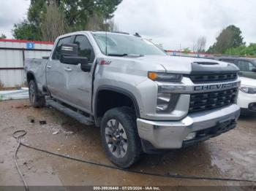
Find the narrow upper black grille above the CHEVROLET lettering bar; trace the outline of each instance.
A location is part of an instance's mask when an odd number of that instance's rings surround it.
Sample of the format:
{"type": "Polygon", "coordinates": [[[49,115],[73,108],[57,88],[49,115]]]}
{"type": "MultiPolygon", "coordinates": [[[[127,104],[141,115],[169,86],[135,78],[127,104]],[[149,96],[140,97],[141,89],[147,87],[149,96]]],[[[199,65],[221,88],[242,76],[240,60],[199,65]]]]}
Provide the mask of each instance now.
{"type": "Polygon", "coordinates": [[[190,75],[190,79],[194,83],[227,81],[227,80],[236,79],[237,77],[238,77],[237,73],[230,73],[230,74],[192,74],[192,75],[190,75]]]}

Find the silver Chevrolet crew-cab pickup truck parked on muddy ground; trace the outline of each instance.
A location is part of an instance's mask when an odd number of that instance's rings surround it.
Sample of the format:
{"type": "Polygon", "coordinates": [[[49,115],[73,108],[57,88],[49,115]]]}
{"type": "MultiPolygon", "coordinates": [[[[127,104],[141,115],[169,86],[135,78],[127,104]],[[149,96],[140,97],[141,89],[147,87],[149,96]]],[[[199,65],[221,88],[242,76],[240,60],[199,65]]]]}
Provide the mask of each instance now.
{"type": "Polygon", "coordinates": [[[236,127],[233,63],[172,57],[138,35],[80,31],[49,58],[26,60],[31,105],[45,103],[101,129],[110,160],[180,149],[236,127]]]}

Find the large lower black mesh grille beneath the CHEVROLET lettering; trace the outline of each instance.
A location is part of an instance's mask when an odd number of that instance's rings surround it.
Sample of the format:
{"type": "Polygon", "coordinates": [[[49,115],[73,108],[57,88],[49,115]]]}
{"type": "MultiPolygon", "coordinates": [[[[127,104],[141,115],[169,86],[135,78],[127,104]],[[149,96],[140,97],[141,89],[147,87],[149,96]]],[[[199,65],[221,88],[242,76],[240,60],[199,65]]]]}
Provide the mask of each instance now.
{"type": "Polygon", "coordinates": [[[234,88],[219,92],[191,94],[189,113],[235,104],[237,93],[238,89],[234,88]]]}

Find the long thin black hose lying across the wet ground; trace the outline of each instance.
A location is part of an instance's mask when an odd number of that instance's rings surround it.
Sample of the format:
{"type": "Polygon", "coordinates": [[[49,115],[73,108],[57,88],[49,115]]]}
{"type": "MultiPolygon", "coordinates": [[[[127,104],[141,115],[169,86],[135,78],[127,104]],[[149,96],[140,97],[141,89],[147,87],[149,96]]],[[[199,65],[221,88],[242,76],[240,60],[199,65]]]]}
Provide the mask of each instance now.
{"type": "Polygon", "coordinates": [[[81,162],[81,163],[87,163],[87,164],[90,164],[90,165],[97,165],[97,166],[101,166],[101,167],[105,167],[105,168],[111,168],[111,169],[115,169],[115,170],[118,170],[118,171],[126,171],[126,172],[130,172],[130,173],[135,173],[135,174],[158,176],[158,177],[172,178],[172,179],[200,179],[200,180],[211,180],[211,181],[256,183],[255,180],[248,180],[248,179],[229,179],[229,178],[206,177],[206,176],[187,176],[187,175],[179,175],[179,174],[156,174],[156,173],[143,172],[143,171],[132,170],[132,169],[118,168],[117,166],[105,165],[105,164],[102,164],[102,163],[95,163],[95,162],[92,162],[92,161],[89,161],[89,160],[82,160],[82,159],[78,159],[78,158],[75,158],[75,157],[69,157],[69,156],[66,156],[66,155],[61,155],[59,153],[50,152],[50,151],[47,151],[47,150],[44,150],[44,149],[39,149],[37,147],[32,147],[32,146],[29,146],[27,144],[23,144],[20,139],[22,139],[25,135],[26,135],[25,130],[18,130],[18,131],[15,131],[12,134],[12,136],[15,139],[17,139],[17,141],[18,141],[18,147],[17,147],[16,152],[15,152],[15,165],[16,165],[16,168],[18,169],[18,173],[20,174],[20,178],[22,179],[26,190],[29,190],[29,187],[27,186],[26,180],[23,178],[23,174],[21,174],[20,169],[18,167],[18,163],[17,163],[17,153],[18,153],[18,149],[20,148],[20,146],[23,146],[23,147],[26,147],[26,148],[29,148],[29,149],[34,149],[34,150],[37,150],[39,152],[45,152],[45,153],[48,153],[50,155],[55,155],[55,156],[58,156],[58,157],[64,157],[64,158],[67,158],[69,160],[75,160],[75,161],[78,161],[78,162],[81,162]],[[22,134],[17,136],[16,135],[17,133],[22,133],[22,134]]]}

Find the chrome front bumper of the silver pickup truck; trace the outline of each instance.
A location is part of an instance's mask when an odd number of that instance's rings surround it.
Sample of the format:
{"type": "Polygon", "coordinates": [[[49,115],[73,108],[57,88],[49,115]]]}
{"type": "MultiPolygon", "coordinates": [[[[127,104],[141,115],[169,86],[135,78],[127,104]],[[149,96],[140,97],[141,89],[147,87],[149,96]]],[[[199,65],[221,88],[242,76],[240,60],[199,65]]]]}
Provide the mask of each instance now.
{"type": "Polygon", "coordinates": [[[154,149],[179,149],[192,141],[203,141],[235,128],[239,115],[240,108],[233,104],[222,109],[189,114],[180,121],[138,119],[137,126],[140,139],[149,142],[154,149]],[[201,132],[202,135],[203,130],[207,129],[206,136],[184,141],[189,133],[201,132]]]}

